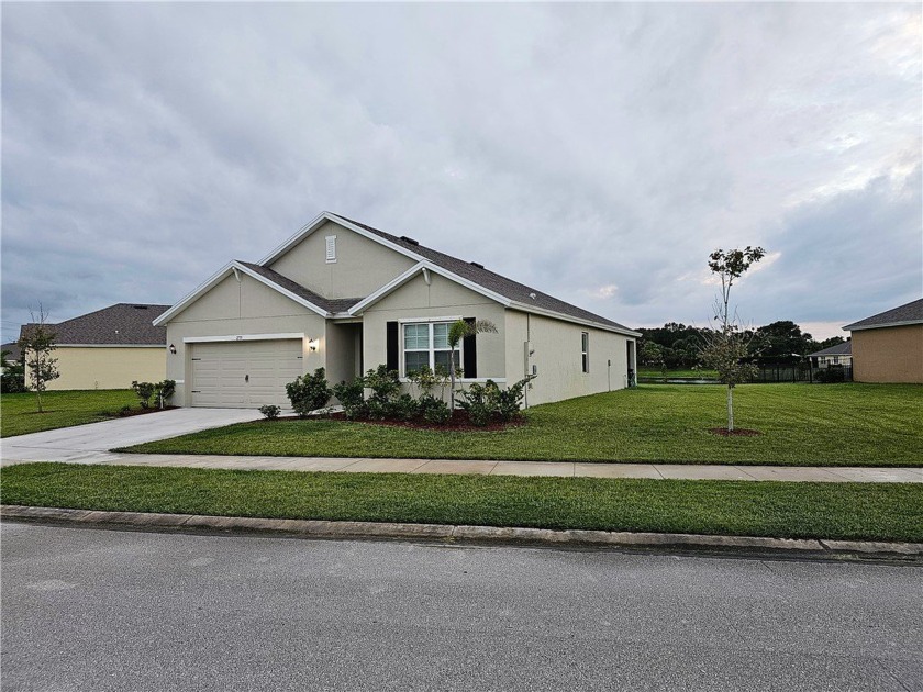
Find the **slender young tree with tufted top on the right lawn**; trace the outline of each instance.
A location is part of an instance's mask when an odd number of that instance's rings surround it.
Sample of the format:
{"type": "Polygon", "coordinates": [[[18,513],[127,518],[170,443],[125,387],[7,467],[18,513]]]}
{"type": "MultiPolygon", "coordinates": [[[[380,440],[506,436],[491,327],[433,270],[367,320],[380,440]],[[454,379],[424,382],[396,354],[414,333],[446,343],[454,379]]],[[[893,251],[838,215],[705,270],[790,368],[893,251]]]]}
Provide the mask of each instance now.
{"type": "Polygon", "coordinates": [[[765,255],[761,247],[747,245],[744,249],[716,249],[709,256],[709,269],[721,279],[721,294],[714,301],[715,327],[704,335],[702,361],[718,370],[727,386],[727,432],[734,431],[734,387],[756,375],[756,366],[746,362],[752,335],[742,331],[736,310],[731,313],[731,287],[765,255]]]}

